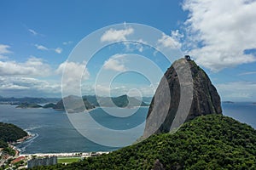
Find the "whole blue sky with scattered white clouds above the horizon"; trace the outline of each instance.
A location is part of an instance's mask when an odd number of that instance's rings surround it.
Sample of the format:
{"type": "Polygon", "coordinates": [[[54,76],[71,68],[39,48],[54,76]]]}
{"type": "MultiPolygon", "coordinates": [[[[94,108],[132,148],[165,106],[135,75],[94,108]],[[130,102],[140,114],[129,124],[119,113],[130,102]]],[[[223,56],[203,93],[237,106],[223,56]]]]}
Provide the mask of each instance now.
{"type": "Polygon", "coordinates": [[[3,0],[0,95],[152,96],[176,59],[165,58],[169,50],[189,54],[222,100],[256,101],[255,8],[254,0],[3,0]],[[98,39],[82,47],[90,35],[98,39]]]}

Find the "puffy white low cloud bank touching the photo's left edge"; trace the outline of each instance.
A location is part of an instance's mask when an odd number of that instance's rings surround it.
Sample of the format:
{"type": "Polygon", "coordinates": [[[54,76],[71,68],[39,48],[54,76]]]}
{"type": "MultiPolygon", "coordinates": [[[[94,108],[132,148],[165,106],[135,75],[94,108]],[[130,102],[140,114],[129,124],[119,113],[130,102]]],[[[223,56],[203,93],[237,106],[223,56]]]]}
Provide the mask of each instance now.
{"type": "Polygon", "coordinates": [[[31,57],[24,63],[16,61],[0,61],[0,76],[40,76],[51,73],[50,66],[43,59],[31,57]]]}

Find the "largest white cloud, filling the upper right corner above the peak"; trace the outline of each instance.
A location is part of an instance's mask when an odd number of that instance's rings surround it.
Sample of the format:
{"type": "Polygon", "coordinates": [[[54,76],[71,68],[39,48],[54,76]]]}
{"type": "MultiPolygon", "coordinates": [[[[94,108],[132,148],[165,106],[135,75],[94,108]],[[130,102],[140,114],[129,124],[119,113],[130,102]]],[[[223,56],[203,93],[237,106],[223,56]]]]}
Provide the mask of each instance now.
{"type": "Polygon", "coordinates": [[[184,46],[198,64],[212,71],[254,62],[253,54],[243,52],[256,47],[255,8],[255,1],[185,0],[189,19],[184,46]]]}

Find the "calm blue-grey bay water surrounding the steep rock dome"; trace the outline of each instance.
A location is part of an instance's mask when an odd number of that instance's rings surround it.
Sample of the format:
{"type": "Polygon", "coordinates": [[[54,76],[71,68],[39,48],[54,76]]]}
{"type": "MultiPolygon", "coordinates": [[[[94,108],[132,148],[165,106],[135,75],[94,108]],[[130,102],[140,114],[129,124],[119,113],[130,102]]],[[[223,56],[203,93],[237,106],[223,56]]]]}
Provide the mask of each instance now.
{"type": "MultiPolygon", "coordinates": [[[[245,122],[256,128],[256,105],[250,103],[223,103],[225,116],[245,122]]],[[[120,112],[119,108],[111,108],[113,113],[120,112]]],[[[124,112],[132,110],[125,109],[124,112]]],[[[143,135],[144,123],[148,113],[148,107],[141,107],[132,116],[116,117],[108,116],[102,108],[90,111],[90,116],[103,127],[113,130],[125,130],[137,127],[136,133],[127,133],[125,138],[129,139],[128,144],[132,144],[137,138],[143,135]]],[[[60,152],[90,152],[90,151],[110,151],[117,150],[118,147],[109,147],[96,144],[84,138],[71,124],[64,111],[52,109],[16,109],[15,105],[0,105],[0,122],[13,123],[26,131],[32,133],[32,139],[27,140],[17,147],[24,154],[33,153],[60,153],[60,152]]],[[[94,125],[93,125],[94,126],[94,125]]],[[[91,128],[93,131],[94,128],[91,128]]],[[[97,129],[98,130],[98,129],[97,129]]],[[[95,128],[95,132],[96,128],[95,128]]],[[[108,136],[108,133],[95,133],[96,137],[108,136]]],[[[118,139],[117,136],[109,136],[110,139],[118,139]]],[[[126,139],[119,139],[119,142],[127,144],[126,139]]]]}

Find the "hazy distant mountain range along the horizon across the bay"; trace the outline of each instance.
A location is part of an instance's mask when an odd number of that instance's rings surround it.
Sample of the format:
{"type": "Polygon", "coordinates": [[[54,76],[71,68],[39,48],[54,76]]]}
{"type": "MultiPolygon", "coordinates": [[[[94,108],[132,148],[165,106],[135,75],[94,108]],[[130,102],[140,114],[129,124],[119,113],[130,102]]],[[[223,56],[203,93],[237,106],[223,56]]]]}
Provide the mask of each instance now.
{"type": "Polygon", "coordinates": [[[55,110],[68,112],[80,112],[90,110],[95,107],[136,107],[148,106],[148,101],[152,98],[143,98],[146,101],[141,101],[135,97],[121,95],[119,97],[102,97],[96,95],[84,95],[82,97],[69,95],[63,99],[58,98],[3,98],[0,97],[1,104],[17,105],[17,108],[53,108],[55,110]],[[82,102],[83,101],[83,102],[82,102]],[[147,103],[146,103],[147,102],[147,103]],[[40,105],[45,104],[46,105],[40,105]],[[65,106],[64,106],[65,104],[65,106]]]}

